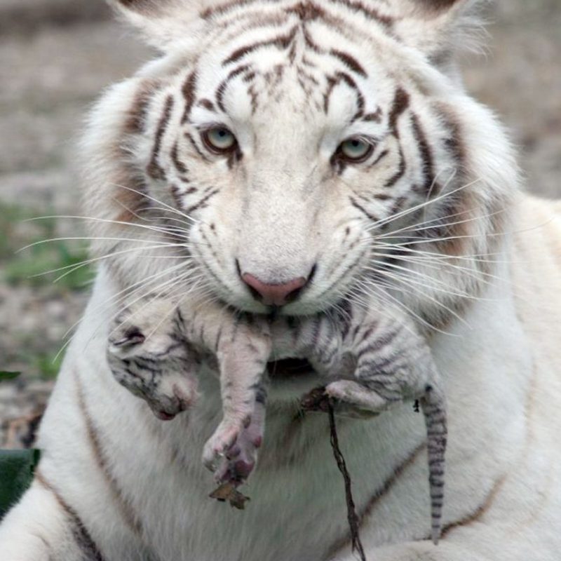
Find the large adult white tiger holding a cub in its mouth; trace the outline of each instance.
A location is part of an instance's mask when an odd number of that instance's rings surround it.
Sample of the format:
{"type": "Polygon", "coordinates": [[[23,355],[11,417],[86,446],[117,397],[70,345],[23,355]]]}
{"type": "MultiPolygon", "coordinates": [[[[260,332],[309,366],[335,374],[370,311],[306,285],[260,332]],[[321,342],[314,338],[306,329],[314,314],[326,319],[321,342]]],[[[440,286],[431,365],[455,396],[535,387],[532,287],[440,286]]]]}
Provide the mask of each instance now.
{"type": "Polygon", "coordinates": [[[426,541],[424,429],[403,407],[340,425],[367,554],[558,557],[561,224],[517,194],[501,128],[454,72],[474,4],[116,2],[164,54],[92,115],[86,207],[94,251],[112,257],[36,480],[0,527],[3,560],[353,558],[325,419],[294,418],[313,374],[274,381],[250,508],[213,503],[199,457],[217,381],[201,376],[205,398],[168,424],[120,388],[104,358],[113,278],[255,312],[259,298],[290,315],[371,291],[407,306],[435,327],[446,384],[444,539],[426,541]]]}

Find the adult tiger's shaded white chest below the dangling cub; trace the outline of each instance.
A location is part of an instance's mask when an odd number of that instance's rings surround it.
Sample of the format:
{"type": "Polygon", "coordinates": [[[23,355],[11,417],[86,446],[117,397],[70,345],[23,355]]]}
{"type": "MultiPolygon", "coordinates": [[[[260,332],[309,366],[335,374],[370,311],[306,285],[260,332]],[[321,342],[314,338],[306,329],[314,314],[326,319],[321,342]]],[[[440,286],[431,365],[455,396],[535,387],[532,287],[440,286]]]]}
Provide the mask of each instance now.
{"type": "MultiPolygon", "coordinates": [[[[220,407],[214,393],[217,381],[212,376],[205,379],[208,387],[203,387],[206,398],[201,406],[170,423],[152,419],[149,412],[144,417],[145,411],[139,422],[144,403],[134,398],[132,403],[139,407],[119,433],[111,431],[109,419],[106,427],[106,421],[97,420],[114,454],[112,476],[139,517],[147,552],[161,561],[326,558],[349,533],[344,482],[332,455],[327,417],[299,417],[293,414],[295,409],[271,408],[257,469],[241,488],[250,501],[238,511],[208,497],[215,483],[201,465],[201,452],[219,421],[220,407]],[[131,469],[131,460],[138,468],[131,469]]],[[[363,513],[391,478],[400,457],[408,457],[424,442],[421,417],[410,407],[402,417],[389,424],[381,419],[384,428],[372,422],[338,423],[353,494],[363,513]],[[398,433],[407,437],[396,445],[392,440],[398,433]]],[[[424,461],[419,461],[419,471],[422,501],[424,461]]],[[[388,522],[395,523],[389,518],[388,522]]],[[[420,522],[428,529],[428,511],[420,522]]]]}

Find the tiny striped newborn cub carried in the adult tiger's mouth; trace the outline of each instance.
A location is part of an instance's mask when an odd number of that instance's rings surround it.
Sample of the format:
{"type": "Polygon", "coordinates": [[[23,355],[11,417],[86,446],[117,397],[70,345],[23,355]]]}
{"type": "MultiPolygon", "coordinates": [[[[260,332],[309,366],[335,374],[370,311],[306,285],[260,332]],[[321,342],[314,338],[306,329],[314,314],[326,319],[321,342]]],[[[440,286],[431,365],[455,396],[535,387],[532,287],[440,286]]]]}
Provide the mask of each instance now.
{"type": "MultiPolygon", "coordinates": [[[[393,314],[398,311],[393,311],[393,314]]],[[[203,462],[219,483],[241,485],[262,444],[266,363],[306,358],[325,378],[335,411],[368,417],[403,400],[419,400],[428,436],[433,541],[440,535],[447,436],[445,400],[431,352],[403,314],[380,316],[349,306],[337,318],[238,315],[217,304],[176,306],[152,297],[114,319],[107,358],[120,384],[147,400],[160,419],[194,404],[205,358],[220,372],[223,418],[205,444],[203,462]]],[[[320,408],[307,396],[302,403],[320,408]]]]}

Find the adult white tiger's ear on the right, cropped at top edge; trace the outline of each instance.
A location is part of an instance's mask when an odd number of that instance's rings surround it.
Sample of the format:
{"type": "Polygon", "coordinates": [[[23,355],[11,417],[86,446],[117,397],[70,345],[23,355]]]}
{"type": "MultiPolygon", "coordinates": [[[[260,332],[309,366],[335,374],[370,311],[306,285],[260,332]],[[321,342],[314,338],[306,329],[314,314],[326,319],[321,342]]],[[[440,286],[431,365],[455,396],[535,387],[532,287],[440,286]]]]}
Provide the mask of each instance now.
{"type": "Polygon", "coordinates": [[[437,65],[447,65],[462,50],[477,50],[481,12],[489,0],[398,0],[396,32],[437,65]]]}

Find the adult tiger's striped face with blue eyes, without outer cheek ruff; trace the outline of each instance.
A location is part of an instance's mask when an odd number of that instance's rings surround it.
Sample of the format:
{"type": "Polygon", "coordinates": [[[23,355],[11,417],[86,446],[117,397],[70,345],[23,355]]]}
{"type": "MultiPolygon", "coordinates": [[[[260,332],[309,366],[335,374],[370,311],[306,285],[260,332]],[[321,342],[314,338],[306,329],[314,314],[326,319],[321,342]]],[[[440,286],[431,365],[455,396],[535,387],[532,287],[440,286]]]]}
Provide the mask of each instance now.
{"type": "Polygon", "coordinates": [[[414,21],[444,35],[465,2],[122,4],[168,46],[122,102],[121,157],[139,208],[179,213],[212,295],[315,313],[376,283],[399,291],[418,243],[480,249],[464,222],[480,205],[471,107],[454,107],[440,43],[411,37],[414,21]]]}

